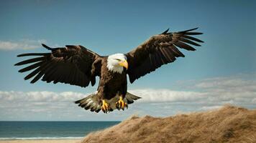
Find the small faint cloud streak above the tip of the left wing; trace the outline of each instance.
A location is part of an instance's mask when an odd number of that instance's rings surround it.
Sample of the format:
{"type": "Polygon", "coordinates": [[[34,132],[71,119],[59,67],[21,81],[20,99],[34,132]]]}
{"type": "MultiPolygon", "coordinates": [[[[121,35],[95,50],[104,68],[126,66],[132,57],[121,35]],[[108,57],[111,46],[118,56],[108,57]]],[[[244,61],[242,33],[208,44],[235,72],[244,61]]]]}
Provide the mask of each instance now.
{"type": "Polygon", "coordinates": [[[19,41],[0,41],[1,50],[16,50],[16,49],[35,49],[40,47],[40,44],[45,43],[45,39],[30,40],[22,39],[19,41]]]}

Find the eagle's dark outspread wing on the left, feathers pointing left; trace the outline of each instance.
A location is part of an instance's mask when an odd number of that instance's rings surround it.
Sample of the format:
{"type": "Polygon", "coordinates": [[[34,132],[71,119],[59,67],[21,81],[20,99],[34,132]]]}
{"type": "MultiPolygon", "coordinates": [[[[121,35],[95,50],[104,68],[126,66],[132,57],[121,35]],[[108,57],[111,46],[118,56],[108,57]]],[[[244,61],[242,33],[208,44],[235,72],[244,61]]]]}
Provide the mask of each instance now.
{"type": "Polygon", "coordinates": [[[95,76],[91,73],[93,62],[99,58],[99,55],[86,49],[83,46],[67,45],[63,48],[50,48],[42,44],[50,53],[29,53],[19,54],[18,56],[38,56],[32,59],[21,61],[15,66],[31,64],[19,72],[35,69],[25,80],[32,79],[31,83],[37,82],[42,77],[42,81],[62,82],[65,84],[87,87],[88,84],[95,84],[95,76]]]}

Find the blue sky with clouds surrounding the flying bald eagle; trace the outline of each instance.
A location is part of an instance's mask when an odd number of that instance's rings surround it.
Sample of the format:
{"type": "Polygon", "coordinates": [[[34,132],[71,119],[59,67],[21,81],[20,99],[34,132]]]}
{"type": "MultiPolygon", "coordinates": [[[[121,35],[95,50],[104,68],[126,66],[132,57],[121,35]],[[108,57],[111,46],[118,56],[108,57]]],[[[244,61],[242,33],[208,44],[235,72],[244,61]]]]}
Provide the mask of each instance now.
{"type": "MultiPolygon", "coordinates": [[[[0,114],[3,116],[0,120],[95,120],[98,117],[120,120],[131,114],[164,116],[209,109],[221,106],[222,102],[252,108],[254,102],[250,101],[255,99],[256,103],[256,87],[253,87],[256,82],[255,9],[255,1],[1,1],[0,114]],[[194,27],[204,32],[197,37],[205,43],[197,51],[183,51],[186,58],[179,58],[129,84],[128,90],[140,94],[147,102],[132,104],[132,109],[125,112],[104,115],[83,111],[66,102],[94,92],[96,86],[84,89],[41,81],[29,84],[23,80],[26,74],[18,73],[19,67],[13,66],[22,60],[16,57],[17,54],[45,51],[40,46],[41,42],[49,46],[81,44],[98,54],[108,55],[126,53],[168,28],[181,31],[194,27]],[[235,94],[234,89],[242,90],[241,87],[244,91],[237,92],[250,92],[248,96],[234,95],[218,101],[218,104],[211,103],[208,98],[204,104],[196,101],[185,104],[193,97],[203,96],[202,92],[207,92],[204,96],[210,96],[212,91],[216,93],[222,89],[225,92],[211,95],[219,99],[219,96],[235,94]],[[155,93],[150,95],[151,99],[158,98],[157,94],[161,92],[163,99],[166,97],[170,101],[151,101],[147,99],[148,91],[155,93]],[[31,92],[35,96],[47,94],[50,99],[42,99],[42,103],[40,99],[26,102],[17,97],[32,96],[31,92]],[[52,96],[56,94],[60,98],[64,96],[63,92],[76,93],[76,96],[64,101],[63,107],[70,109],[67,113],[70,115],[58,119],[60,110],[47,107],[53,107],[52,96]],[[179,96],[184,99],[179,99],[179,96]],[[248,102],[236,100],[245,97],[248,102]],[[33,101],[37,104],[32,104],[33,101]],[[11,108],[9,102],[24,102],[32,107],[11,108]],[[165,114],[159,114],[163,111],[160,104],[166,105],[165,114]],[[37,114],[29,112],[33,108],[37,109],[37,114]],[[11,116],[8,112],[15,114],[11,116]],[[52,116],[47,117],[49,114],[52,116]],[[82,115],[76,117],[75,114],[82,115]],[[115,116],[114,119],[111,116],[115,116]]],[[[63,104],[62,100],[55,102],[63,104]]]]}

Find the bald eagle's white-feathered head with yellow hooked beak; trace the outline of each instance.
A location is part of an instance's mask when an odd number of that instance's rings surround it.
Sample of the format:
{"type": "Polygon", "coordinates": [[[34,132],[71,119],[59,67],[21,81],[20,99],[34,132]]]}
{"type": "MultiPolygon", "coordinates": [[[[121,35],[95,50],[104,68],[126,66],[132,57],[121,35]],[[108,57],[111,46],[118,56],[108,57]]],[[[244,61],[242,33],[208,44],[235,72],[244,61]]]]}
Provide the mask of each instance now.
{"type": "Polygon", "coordinates": [[[124,67],[128,69],[127,56],[124,54],[112,54],[108,56],[106,67],[109,71],[122,74],[124,67]]]}

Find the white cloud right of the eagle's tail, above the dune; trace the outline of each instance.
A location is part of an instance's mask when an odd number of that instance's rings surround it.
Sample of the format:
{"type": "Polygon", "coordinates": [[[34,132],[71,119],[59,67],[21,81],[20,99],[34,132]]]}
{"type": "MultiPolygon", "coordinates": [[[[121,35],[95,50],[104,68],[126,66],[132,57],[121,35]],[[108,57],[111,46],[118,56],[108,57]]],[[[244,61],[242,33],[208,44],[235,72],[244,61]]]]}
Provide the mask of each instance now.
{"type": "Polygon", "coordinates": [[[130,90],[144,102],[196,102],[204,104],[255,104],[256,74],[217,77],[179,83],[186,92],[170,89],[130,90]]]}

